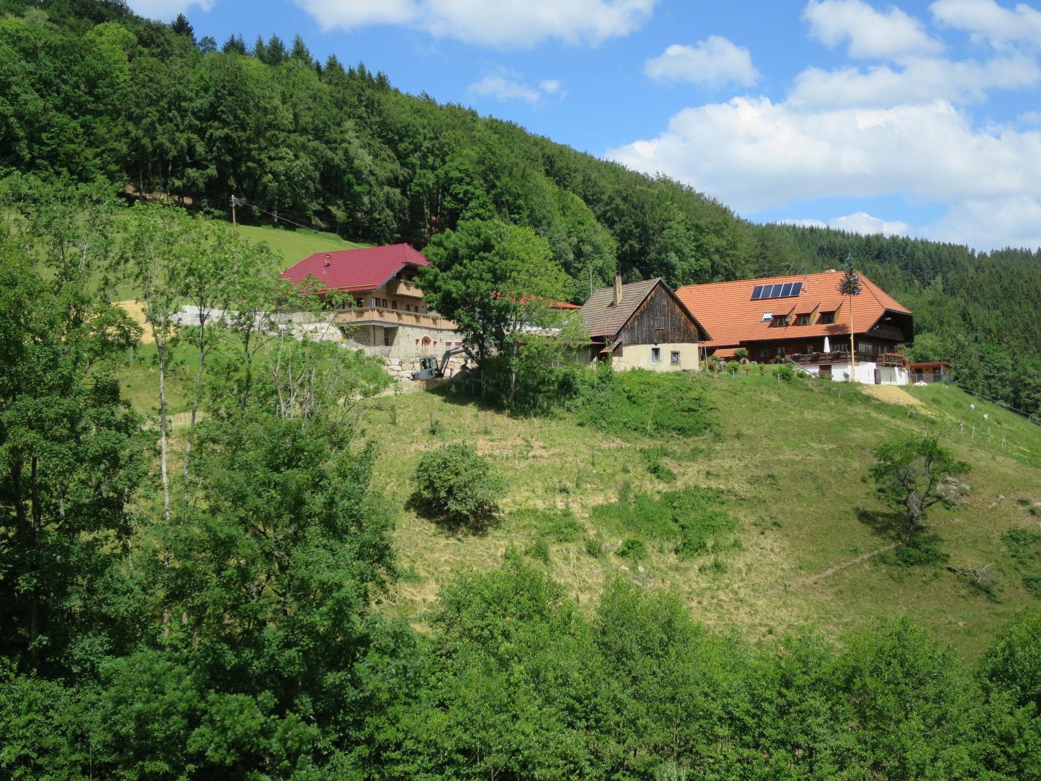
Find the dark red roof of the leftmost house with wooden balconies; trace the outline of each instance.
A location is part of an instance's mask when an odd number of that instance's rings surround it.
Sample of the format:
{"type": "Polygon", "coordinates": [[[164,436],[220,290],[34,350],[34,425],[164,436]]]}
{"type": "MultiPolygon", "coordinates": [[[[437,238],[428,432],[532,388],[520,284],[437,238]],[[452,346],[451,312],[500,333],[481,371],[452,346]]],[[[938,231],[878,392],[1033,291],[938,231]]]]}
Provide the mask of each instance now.
{"type": "Polygon", "coordinates": [[[362,247],[357,250],[315,252],[283,271],[281,277],[299,284],[310,275],[334,291],[372,291],[406,266],[430,266],[430,261],[407,244],[362,247]]]}

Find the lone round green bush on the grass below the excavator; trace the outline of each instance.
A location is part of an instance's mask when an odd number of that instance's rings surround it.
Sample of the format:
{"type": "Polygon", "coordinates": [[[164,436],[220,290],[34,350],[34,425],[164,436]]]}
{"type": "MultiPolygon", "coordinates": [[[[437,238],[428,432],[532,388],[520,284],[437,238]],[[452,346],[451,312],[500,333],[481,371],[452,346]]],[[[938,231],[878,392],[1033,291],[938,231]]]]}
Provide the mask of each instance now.
{"type": "Polygon", "coordinates": [[[506,482],[469,445],[425,453],[415,468],[415,493],[431,510],[467,525],[486,524],[499,511],[506,482]]]}

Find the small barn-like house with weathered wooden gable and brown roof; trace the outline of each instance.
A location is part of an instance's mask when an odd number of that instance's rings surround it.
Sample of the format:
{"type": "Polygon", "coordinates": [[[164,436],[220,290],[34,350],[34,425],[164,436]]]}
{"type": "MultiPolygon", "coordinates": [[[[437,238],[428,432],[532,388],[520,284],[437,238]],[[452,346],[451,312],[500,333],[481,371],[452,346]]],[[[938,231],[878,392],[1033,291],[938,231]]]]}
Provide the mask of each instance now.
{"type": "Polygon", "coordinates": [[[660,279],[595,291],[582,305],[592,344],[580,360],[611,356],[617,369],[659,372],[699,368],[699,344],[710,338],[701,323],[660,279]]]}

